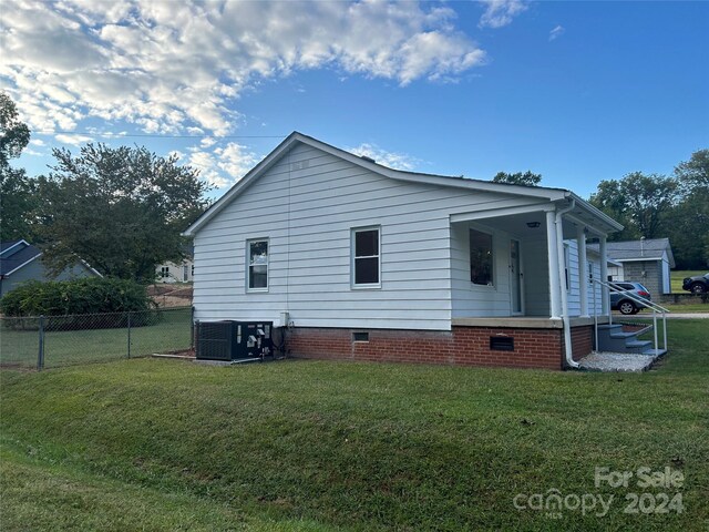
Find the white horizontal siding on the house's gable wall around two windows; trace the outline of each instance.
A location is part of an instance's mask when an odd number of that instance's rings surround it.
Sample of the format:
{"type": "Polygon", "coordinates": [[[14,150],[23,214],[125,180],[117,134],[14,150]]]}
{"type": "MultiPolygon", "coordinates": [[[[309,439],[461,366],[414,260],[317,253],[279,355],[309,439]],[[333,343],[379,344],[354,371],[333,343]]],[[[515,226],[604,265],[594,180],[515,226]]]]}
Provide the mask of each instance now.
{"type": "MultiPolygon", "coordinates": [[[[531,203],[541,201],[400,182],[296,144],[195,235],[196,319],[278,321],[289,311],[296,327],[450,330],[452,254],[460,253],[450,216],[531,203]],[[352,289],[351,229],[372,226],[381,228],[381,288],[352,289]],[[244,243],[266,234],[268,291],[246,295],[244,243]]],[[[499,245],[508,252],[508,241],[499,245]]],[[[470,290],[467,254],[464,260],[470,290]]],[[[475,304],[479,315],[508,315],[502,267],[495,295],[475,304]],[[481,310],[489,300],[495,314],[481,310]]]]}

